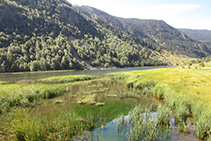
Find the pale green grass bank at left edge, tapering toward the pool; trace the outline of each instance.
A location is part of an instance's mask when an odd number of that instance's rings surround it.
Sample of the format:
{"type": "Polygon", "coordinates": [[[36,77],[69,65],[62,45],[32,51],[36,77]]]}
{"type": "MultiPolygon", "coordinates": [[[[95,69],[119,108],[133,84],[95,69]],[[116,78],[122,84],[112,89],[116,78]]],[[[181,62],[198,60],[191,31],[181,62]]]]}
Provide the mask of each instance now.
{"type": "Polygon", "coordinates": [[[53,98],[65,93],[65,86],[10,84],[0,86],[0,113],[12,106],[27,106],[40,98],[53,98]]]}

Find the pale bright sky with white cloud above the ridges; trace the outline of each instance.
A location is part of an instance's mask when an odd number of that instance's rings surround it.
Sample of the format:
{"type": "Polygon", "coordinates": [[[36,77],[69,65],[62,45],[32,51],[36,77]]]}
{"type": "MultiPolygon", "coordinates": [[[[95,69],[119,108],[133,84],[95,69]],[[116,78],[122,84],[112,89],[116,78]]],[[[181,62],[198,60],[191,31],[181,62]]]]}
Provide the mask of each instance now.
{"type": "Polygon", "coordinates": [[[211,0],[68,0],[122,18],[164,20],[175,28],[211,30],[211,0]]]}

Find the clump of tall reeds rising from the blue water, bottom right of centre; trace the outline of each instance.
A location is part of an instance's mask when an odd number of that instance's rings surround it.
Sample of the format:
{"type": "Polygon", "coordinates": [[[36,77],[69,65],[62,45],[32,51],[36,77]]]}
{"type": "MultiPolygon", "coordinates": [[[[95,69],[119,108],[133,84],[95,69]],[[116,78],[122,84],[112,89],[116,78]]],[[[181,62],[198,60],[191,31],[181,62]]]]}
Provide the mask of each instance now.
{"type": "MultiPolygon", "coordinates": [[[[148,108],[137,106],[129,112],[132,129],[127,133],[128,140],[158,140],[162,136],[165,136],[165,139],[168,138],[170,133],[170,109],[160,104],[154,116],[152,116],[151,111],[152,106],[148,108]]],[[[127,124],[124,125],[128,126],[127,124]]]]}

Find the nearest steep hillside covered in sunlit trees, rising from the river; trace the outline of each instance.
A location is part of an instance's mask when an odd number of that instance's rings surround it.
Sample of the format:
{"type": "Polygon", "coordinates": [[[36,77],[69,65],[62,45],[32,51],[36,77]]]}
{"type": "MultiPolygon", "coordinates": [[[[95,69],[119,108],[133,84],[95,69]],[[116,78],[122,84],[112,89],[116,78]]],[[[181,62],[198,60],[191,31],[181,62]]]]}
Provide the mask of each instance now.
{"type": "Polygon", "coordinates": [[[0,72],[167,65],[157,46],[66,0],[1,0],[0,72]]]}

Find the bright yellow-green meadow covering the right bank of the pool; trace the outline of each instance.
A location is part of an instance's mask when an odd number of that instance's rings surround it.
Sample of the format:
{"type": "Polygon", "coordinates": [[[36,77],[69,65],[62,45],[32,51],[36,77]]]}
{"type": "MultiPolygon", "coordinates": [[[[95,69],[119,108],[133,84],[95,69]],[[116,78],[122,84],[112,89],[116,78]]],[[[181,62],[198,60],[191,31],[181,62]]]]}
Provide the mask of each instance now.
{"type": "Polygon", "coordinates": [[[164,98],[165,104],[174,110],[177,122],[185,122],[187,114],[192,113],[198,137],[206,139],[210,135],[210,70],[171,68],[133,71],[127,73],[126,85],[164,98]],[[128,77],[128,74],[131,76],[128,77]]]}

